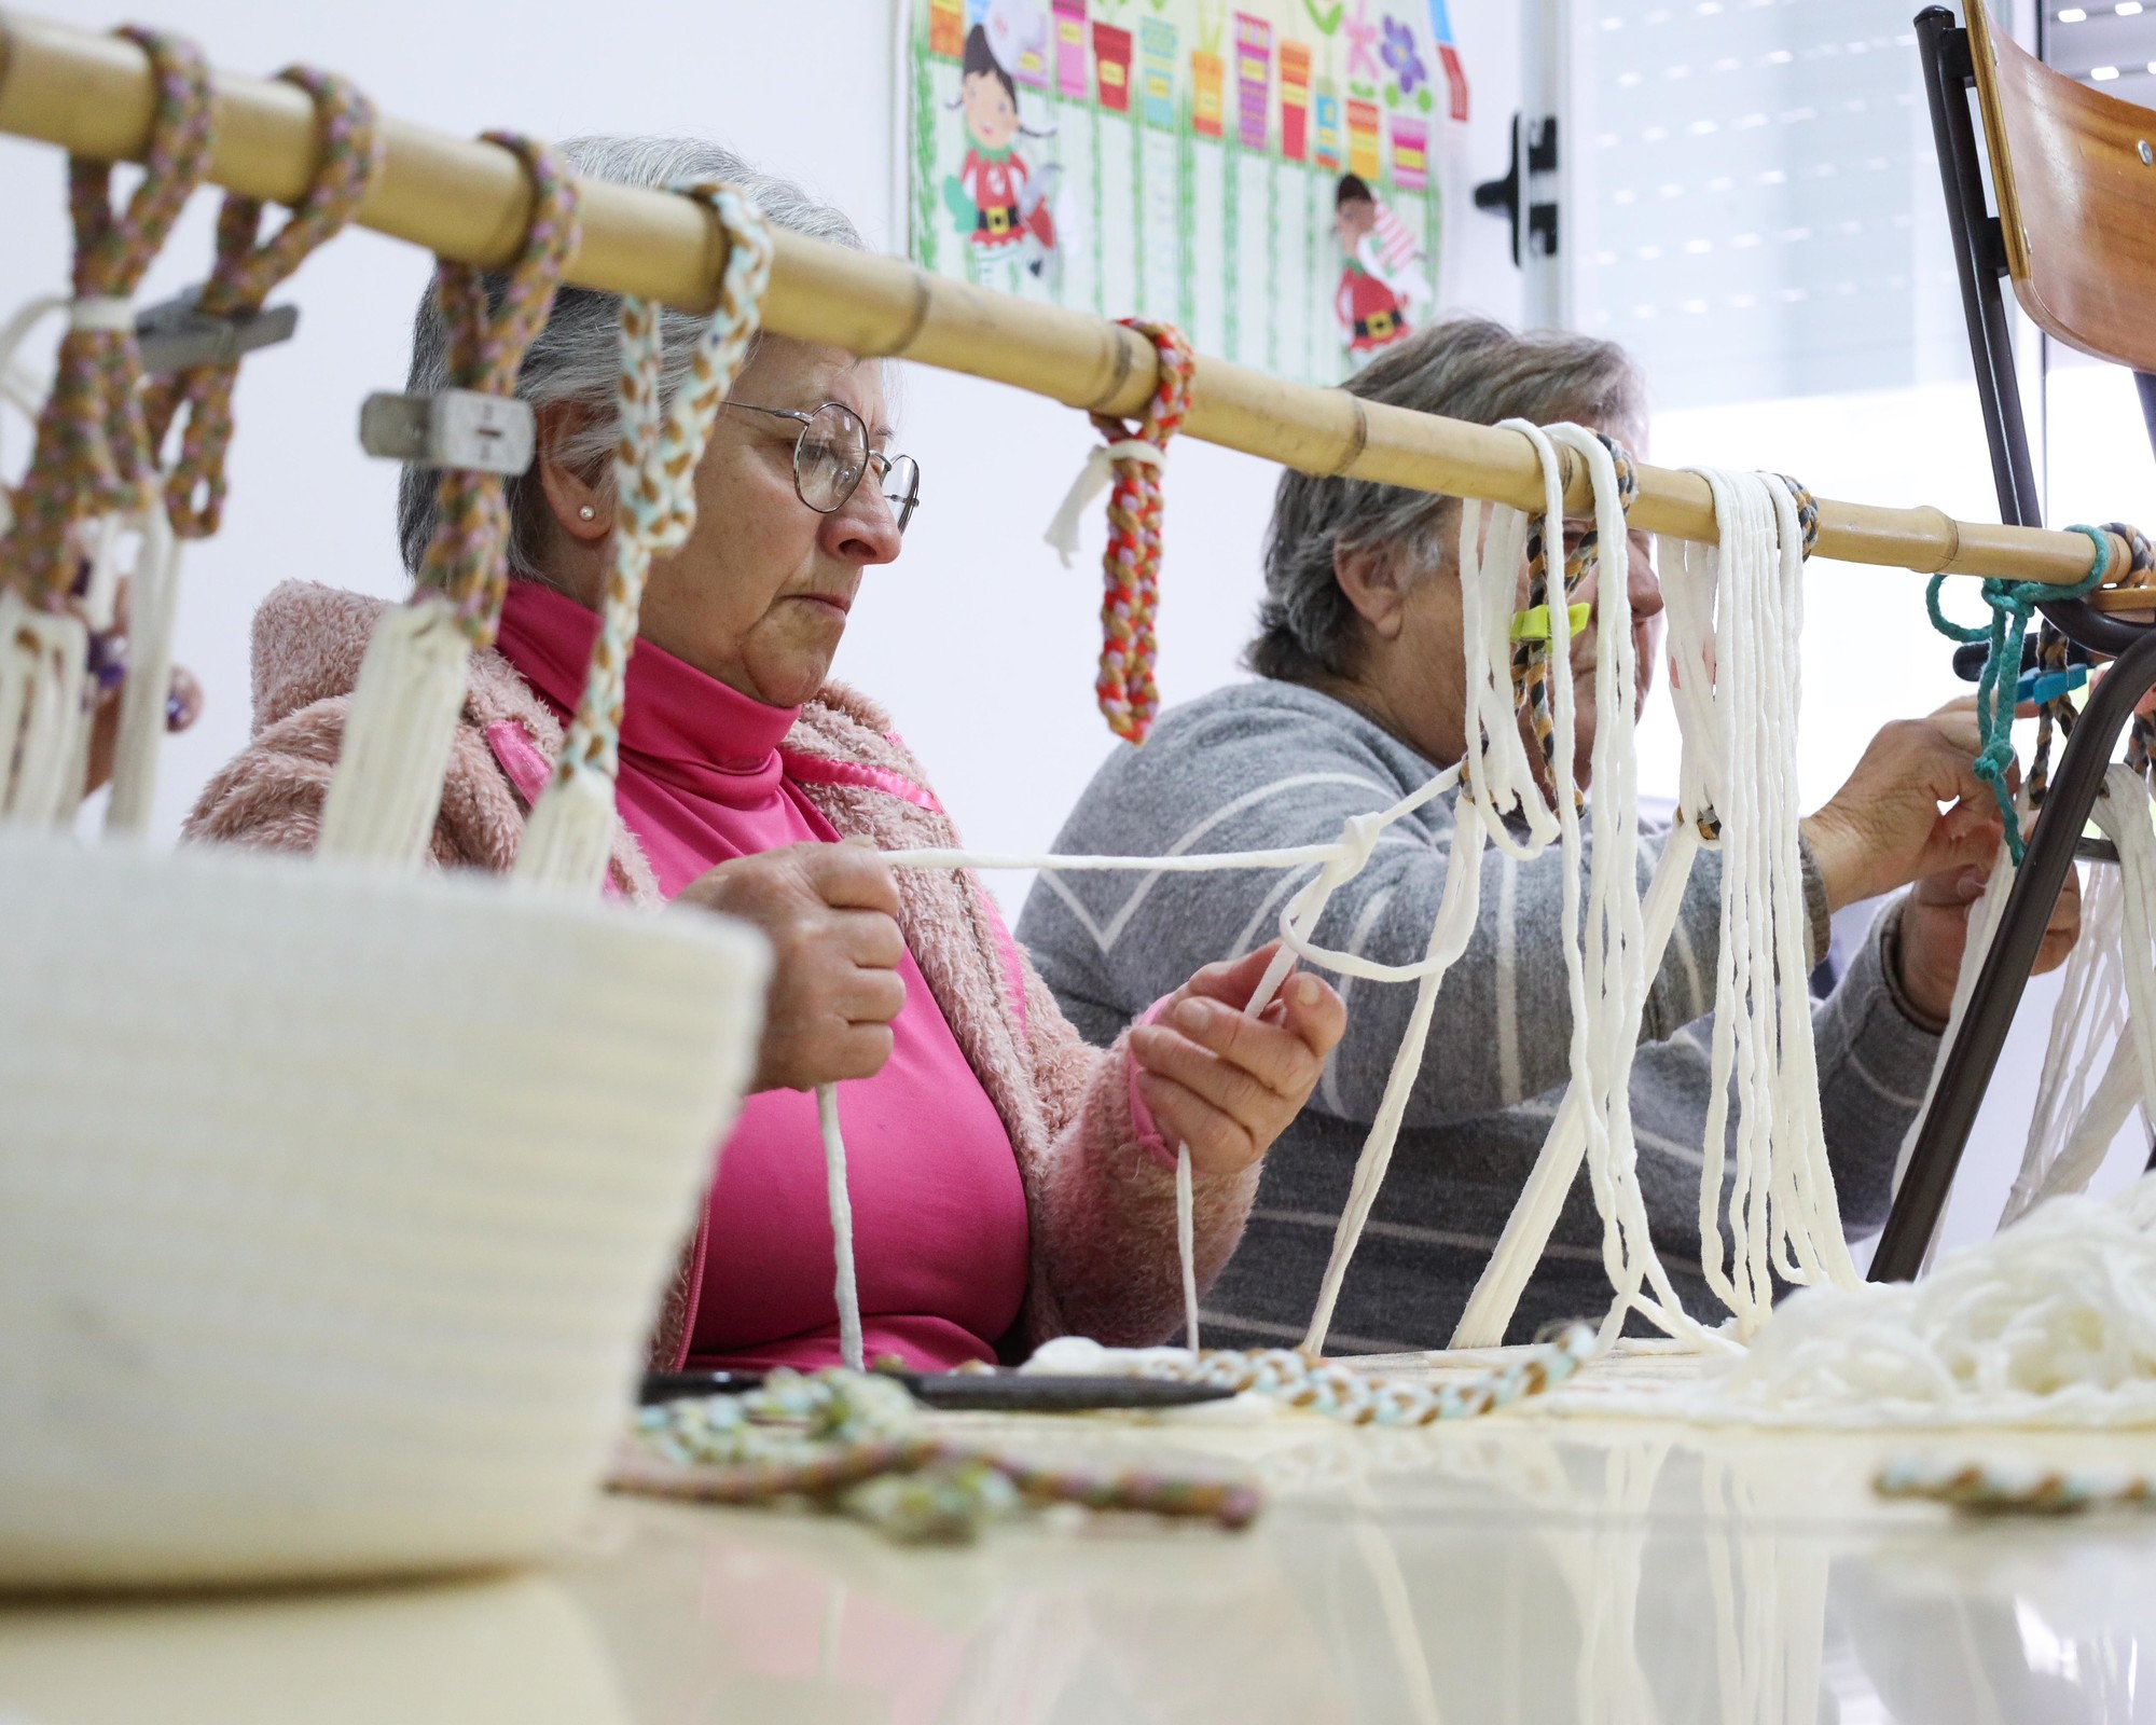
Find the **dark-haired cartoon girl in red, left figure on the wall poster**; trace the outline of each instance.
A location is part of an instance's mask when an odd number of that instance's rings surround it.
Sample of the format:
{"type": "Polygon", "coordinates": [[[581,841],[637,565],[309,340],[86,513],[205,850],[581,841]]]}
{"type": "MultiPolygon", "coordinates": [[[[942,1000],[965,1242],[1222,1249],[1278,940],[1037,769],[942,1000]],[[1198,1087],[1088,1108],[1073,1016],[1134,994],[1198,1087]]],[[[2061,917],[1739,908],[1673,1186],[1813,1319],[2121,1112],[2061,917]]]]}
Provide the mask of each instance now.
{"type": "Polygon", "coordinates": [[[1011,75],[1031,47],[1039,54],[1048,19],[1031,0],[992,0],[966,32],[957,108],[966,116],[966,160],[944,181],[944,203],[981,261],[1013,259],[1039,276],[1056,248],[1056,166],[1039,172],[1018,153],[1018,138],[1039,138],[1018,119],[1011,75]]]}

